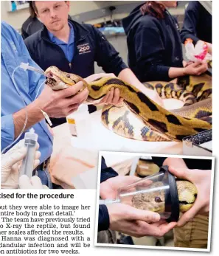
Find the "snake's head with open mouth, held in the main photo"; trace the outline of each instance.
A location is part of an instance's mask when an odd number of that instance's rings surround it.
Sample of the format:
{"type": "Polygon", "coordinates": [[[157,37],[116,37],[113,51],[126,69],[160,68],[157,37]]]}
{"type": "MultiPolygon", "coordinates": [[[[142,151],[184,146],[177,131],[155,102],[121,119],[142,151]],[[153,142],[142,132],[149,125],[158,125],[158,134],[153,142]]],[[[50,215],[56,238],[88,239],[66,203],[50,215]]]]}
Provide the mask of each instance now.
{"type": "Polygon", "coordinates": [[[83,80],[82,77],[63,72],[56,66],[49,66],[45,71],[45,75],[47,77],[46,84],[51,86],[53,90],[60,90],[68,88],[69,86],[74,86],[80,80],[83,81],[83,89],[87,86],[86,81],[83,80]]]}

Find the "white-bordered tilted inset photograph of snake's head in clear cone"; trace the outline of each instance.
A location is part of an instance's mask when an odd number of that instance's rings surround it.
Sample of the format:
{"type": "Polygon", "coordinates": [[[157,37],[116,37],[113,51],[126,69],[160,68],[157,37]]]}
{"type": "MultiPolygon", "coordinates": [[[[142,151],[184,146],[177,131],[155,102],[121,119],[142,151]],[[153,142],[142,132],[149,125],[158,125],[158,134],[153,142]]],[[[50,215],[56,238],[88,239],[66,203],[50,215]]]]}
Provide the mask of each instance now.
{"type": "Polygon", "coordinates": [[[209,252],[214,157],[101,151],[95,246],[209,252]]]}

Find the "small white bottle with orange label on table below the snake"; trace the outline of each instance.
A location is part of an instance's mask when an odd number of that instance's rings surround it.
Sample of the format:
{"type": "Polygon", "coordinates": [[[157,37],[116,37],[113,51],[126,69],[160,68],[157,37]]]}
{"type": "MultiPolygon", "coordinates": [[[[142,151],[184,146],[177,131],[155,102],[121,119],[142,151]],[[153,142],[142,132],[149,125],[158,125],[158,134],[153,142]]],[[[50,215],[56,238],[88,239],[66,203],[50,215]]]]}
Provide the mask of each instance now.
{"type": "Polygon", "coordinates": [[[83,134],[86,121],[88,121],[89,117],[88,105],[86,104],[81,104],[77,111],[66,117],[72,136],[79,137],[83,134]]]}

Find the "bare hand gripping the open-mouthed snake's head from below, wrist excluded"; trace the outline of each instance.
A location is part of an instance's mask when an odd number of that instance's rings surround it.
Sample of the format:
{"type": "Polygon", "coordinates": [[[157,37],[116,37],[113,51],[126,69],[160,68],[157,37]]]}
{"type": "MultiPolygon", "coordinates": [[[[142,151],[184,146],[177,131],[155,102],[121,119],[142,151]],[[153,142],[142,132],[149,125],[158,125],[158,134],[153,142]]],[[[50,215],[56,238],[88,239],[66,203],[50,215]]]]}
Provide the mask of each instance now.
{"type": "Polygon", "coordinates": [[[35,101],[49,117],[66,117],[76,111],[79,105],[87,99],[88,89],[80,91],[82,88],[83,82],[81,81],[60,91],[53,91],[49,86],[45,86],[41,95],[35,101]]]}

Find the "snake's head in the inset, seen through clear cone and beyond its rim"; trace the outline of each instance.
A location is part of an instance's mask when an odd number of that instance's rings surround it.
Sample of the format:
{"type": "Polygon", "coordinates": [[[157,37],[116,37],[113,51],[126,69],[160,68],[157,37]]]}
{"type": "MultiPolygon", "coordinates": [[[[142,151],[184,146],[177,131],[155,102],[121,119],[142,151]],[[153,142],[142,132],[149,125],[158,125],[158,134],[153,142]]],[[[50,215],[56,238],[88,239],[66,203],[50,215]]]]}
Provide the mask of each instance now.
{"type": "MultiPolygon", "coordinates": [[[[150,186],[153,192],[139,193],[133,196],[132,206],[141,210],[165,212],[164,190],[160,189],[163,186],[164,184],[161,181],[156,181],[150,186]]],[[[178,190],[179,210],[180,212],[187,212],[195,203],[198,193],[197,189],[190,181],[176,180],[176,186],[178,190]]]]}

